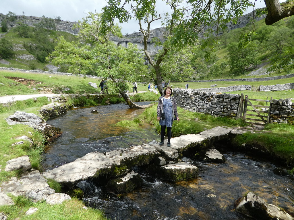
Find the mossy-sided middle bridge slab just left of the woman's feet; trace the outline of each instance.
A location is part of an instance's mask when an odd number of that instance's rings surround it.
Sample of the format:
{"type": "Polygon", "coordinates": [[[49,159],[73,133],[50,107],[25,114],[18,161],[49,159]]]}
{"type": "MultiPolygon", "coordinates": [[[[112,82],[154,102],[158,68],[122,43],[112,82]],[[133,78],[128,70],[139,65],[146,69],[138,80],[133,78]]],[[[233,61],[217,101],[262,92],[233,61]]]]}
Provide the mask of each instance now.
{"type": "Polygon", "coordinates": [[[156,151],[156,148],[142,144],[127,148],[125,150],[113,150],[106,153],[106,157],[115,161],[117,166],[120,165],[144,165],[150,163],[155,156],[160,156],[161,153],[156,151]]]}

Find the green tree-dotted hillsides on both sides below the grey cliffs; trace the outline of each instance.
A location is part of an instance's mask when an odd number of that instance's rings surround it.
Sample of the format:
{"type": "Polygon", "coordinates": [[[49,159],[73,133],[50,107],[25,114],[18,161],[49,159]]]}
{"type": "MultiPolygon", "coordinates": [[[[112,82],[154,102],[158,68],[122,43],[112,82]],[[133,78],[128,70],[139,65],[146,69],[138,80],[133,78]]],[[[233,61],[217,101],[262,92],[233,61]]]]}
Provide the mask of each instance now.
{"type": "MultiPolygon", "coordinates": [[[[42,52],[35,53],[36,47],[34,45],[36,44],[37,47],[41,47],[40,51],[46,50],[46,53],[49,53],[48,51],[53,50],[52,48],[56,45],[55,40],[59,36],[64,36],[67,41],[77,40],[76,36],[60,31],[36,29],[33,27],[27,28],[31,34],[27,34],[26,37],[20,36],[18,27],[11,28],[8,33],[1,33],[2,37],[5,37],[13,44],[14,57],[5,58],[4,60],[0,59],[0,67],[35,68],[40,70],[52,69],[56,71],[57,67],[53,69],[54,67],[50,63],[40,62],[38,60],[42,52]],[[31,50],[28,48],[31,48],[31,50]]],[[[206,51],[210,51],[211,57],[206,59],[203,54],[193,57],[194,61],[191,60],[191,65],[194,66],[195,74],[192,78],[186,78],[186,80],[268,77],[293,73],[293,70],[267,72],[267,68],[275,64],[278,60],[278,58],[275,58],[277,54],[283,57],[285,51],[288,50],[287,48],[293,47],[293,29],[294,16],[291,16],[284,18],[272,26],[266,26],[263,19],[254,22],[254,25],[248,23],[243,28],[226,31],[218,36],[218,44],[215,45],[212,51],[206,48],[206,51]],[[245,34],[252,35],[249,44],[247,44],[248,42],[244,42],[247,39],[245,34]],[[232,57],[238,57],[245,50],[238,52],[235,49],[233,52],[230,52],[232,51],[230,48],[234,44],[238,44],[238,47],[242,45],[243,49],[250,48],[250,50],[248,49],[248,54],[243,58],[239,57],[239,60],[232,61],[232,57]],[[253,53],[254,56],[246,63],[244,60],[248,59],[253,53]],[[197,62],[195,62],[195,59],[197,62]],[[224,69],[222,67],[220,68],[224,63],[224,69]],[[199,72],[198,67],[200,64],[205,66],[204,72],[199,72]],[[233,65],[236,65],[236,67],[233,68],[233,65]],[[243,70],[238,69],[240,66],[242,66],[243,70]]],[[[211,37],[207,40],[210,41],[213,39],[216,40],[216,37],[211,37]]],[[[62,72],[62,68],[59,71],[62,72]]]]}

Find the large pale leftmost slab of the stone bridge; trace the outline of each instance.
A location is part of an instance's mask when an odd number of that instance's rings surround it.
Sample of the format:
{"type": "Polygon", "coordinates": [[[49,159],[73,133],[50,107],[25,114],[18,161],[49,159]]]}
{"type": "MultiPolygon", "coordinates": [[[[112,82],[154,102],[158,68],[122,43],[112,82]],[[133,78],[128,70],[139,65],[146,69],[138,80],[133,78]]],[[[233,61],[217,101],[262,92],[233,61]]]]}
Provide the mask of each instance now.
{"type": "Polygon", "coordinates": [[[48,172],[43,176],[63,184],[74,184],[89,177],[98,177],[109,173],[114,168],[113,160],[99,152],[91,152],[48,172]]]}

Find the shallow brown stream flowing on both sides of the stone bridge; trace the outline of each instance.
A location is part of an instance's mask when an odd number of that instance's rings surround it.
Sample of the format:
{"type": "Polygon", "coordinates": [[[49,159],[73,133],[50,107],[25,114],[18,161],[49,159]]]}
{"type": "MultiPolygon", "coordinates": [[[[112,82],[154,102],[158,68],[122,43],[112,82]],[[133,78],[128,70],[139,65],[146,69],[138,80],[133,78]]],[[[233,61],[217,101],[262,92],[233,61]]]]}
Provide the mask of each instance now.
{"type": "MultiPolygon", "coordinates": [[[[92,151],[106,152],[159,141],[154,128],[129,132],[113,126],[122,119],[131,120],[141,112],[128,109],[124,104],[95,106],[76,108],[48,121],[60,127],[64,134],[46,150],[44,167],[52,169],[92,151]],[[91,114],[93,109],[103,113],[91,114]]],[[[81,181],[77,186],[84,191],[83,201],[87,206],[102,209],[107,217],[117,220],[246,219],[234,210],[234,203],[248,191],[293,215],[293,178],[275,175],[273,163],[242,153],[221,153],[226,161],[220,164],[183,158],[199,168],[198,178],[191,181],[162,181],[135,167],[144,183],[131,193],[108,194],[102,186],[91,181],[81,181]]]]}

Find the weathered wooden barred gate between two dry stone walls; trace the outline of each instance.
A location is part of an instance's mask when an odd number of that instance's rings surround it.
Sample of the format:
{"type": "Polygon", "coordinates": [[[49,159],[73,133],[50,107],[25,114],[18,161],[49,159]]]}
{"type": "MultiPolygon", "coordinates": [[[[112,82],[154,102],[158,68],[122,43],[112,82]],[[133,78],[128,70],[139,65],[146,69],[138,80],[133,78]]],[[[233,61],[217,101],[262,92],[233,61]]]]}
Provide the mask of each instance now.
{"type": "MultiPolygon", "coordinates": [[[[268,97],[266,97],[268,98],[268,97]]],[[[265,125],[270,119],[270,100],[263,99],[249,99],[248,95],[244,97],[243,120],[248,124],[265,125]],[[265,102],[265,105],[258,105],[257,102],[265,102]],[[250,118],[248,117],[250,116],[250,118]]]]}

